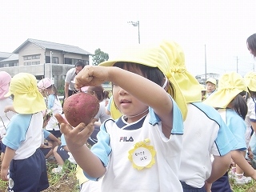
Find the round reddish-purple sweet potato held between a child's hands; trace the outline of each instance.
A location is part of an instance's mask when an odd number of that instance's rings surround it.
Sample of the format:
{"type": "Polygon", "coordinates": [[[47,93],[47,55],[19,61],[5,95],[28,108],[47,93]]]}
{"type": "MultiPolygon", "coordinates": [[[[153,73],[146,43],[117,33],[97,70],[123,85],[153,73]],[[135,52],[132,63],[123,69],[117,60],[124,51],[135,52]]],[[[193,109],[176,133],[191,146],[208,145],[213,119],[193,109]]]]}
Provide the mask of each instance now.
{"type": "Polygon", "coordinates": [[[71,126],[78,126],[80,122],[88,125],[98,113],[98,98],[94,95],[79,92],[66,98],[63,112],[71,126]]]}

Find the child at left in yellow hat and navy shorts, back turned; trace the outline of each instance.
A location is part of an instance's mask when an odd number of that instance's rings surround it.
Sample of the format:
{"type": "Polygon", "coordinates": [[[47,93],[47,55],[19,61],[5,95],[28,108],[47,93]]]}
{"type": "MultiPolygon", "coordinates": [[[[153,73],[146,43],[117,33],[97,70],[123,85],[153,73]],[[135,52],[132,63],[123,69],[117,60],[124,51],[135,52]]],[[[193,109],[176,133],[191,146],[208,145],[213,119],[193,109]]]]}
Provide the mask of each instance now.
{"type": "Polygon", "coordinates": [[[39,149],[42,139],[42,110],[46,103],[39,93],[34,75],[19,73],[10,81],[6,97],[13,95],[15,114],[7,126],[2,143],[6,152],[1,178],[9,180],[9,191],[41,191],[48,188],[46,160],[39,149]],[[10,166],[10,179],[8,169],[10,166]]]}

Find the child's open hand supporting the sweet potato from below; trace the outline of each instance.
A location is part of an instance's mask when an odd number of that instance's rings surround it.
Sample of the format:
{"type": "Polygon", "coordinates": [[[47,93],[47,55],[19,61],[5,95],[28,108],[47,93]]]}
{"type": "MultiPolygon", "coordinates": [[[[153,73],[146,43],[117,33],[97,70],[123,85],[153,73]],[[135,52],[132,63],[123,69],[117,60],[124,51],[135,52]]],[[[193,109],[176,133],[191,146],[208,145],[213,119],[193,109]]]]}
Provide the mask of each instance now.
{"type": "Polygon", "coordinates": [[[60,123],[62,134],[65,135],[66,144],[70,151],[78,150],[81,146],[84,146],[94,131],[94,124],[92,122],[87,126],[84,123],[80,123],[73,128],[61,114],[55,114],[55,117],[60,123]]]}

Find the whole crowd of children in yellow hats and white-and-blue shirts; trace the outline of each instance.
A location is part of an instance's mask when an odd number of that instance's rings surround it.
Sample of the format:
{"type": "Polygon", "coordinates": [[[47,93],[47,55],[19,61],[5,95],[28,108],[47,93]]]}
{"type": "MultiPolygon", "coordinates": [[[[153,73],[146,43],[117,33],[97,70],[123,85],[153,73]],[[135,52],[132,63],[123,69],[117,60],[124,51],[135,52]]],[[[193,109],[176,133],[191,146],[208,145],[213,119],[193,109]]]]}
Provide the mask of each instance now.
{"type": "MultiPolygon", "coordinates": [[[[255,57],[256,34],[246,42],[255,57]]],[[[80,191],[231,192],[230,178],[256,179],[255,72],[226,73],[202,87],[186,70],[181,46],[162,41],[85,66],[74,81],[100,103],[88,125],[66,122],[50,78],[37,83],[32,74],[0,72],[8,190],[45,190],[49,158],[54,174],[66,161],[77,165],[80,191]],[[112,84],[110,100],[102,82],[112,84]]]]}

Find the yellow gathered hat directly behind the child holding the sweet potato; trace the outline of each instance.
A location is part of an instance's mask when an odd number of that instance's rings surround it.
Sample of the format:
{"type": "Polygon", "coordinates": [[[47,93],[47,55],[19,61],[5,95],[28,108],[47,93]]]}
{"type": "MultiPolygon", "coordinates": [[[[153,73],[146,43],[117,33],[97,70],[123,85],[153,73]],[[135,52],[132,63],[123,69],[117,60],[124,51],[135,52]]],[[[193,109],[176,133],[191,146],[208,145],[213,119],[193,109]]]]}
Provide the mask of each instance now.
{"type": "Polygon", "coordinates": [[[160,43],[169,58],[170,72],[173,74],[186,103],[202,102],[201,86],[196,78],[186,70],[185,56],[182,47],[173,41],[164,40],[160,43]]]}

